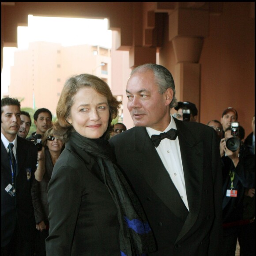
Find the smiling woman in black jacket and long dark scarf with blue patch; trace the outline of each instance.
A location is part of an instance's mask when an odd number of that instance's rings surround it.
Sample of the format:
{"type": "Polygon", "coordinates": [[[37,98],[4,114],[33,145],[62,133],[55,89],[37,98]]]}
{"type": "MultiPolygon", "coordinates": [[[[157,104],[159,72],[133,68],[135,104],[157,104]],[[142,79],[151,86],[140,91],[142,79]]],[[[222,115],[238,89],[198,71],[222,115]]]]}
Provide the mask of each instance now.
{"type": "Polygon", "coordinates": [[[137,256],[155,250],[151,228],[109,146],[120,102],[94,75],[69,78],[56,109],[66,143],[49,182],[47,256],[137,256]]]}

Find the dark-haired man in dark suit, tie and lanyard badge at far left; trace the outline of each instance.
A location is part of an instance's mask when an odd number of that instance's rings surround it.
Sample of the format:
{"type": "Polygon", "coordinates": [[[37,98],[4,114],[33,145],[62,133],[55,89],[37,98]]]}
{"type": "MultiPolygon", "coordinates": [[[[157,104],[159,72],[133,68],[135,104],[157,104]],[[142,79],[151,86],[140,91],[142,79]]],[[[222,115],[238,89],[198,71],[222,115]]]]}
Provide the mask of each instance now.
{"type": "Polygon", "coordinates": [[[1,100],[1,255],[34,255],[31,185],[37,163],[33,143],[17,136],[20,102],[1,100]]]}

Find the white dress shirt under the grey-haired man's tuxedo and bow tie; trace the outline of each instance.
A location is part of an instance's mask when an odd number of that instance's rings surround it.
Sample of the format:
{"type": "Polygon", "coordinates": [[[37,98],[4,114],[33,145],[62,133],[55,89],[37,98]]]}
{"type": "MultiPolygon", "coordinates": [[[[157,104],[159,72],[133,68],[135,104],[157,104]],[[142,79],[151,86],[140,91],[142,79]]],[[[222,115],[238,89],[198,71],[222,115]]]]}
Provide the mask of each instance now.
{"type": "MultiPolygon", "coordinates": [[[[163,132],[168,132],[171,128],[177,129],[173,117],[171,117],[171,122],[163,132]]],[[[150,137],[152,135],[159,135],[160,133],[162,133],[149,127],[146,127],[146,130],[150,137]]],[[[156,151],[158,152],[158,155],[161,158],[163,165],[169,173],[173,184],[177,188],[181,199],[183,200],[185,206],[188,208],[188,198],[186,193],[184,172],[181,161],[181,150],[178,137],[175,140],[170,140],[167,138],[162,139],[159,146],[156,147],[156,151]]]]}

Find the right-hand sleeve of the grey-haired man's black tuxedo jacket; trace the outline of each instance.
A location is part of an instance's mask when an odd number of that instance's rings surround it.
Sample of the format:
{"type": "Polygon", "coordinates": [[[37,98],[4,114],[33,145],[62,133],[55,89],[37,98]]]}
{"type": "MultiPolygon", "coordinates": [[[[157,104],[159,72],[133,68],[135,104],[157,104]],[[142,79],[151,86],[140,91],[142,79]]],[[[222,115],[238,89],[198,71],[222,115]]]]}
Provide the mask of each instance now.
{"type": "Polygon", "coordinates": [[[219,143],[217,134],[212,137],[212,174],[215,192],[215,221],[210,235],[209,256],[221,255],[222,252],[222,171],[221,159],[219,153],[219,143]]]}

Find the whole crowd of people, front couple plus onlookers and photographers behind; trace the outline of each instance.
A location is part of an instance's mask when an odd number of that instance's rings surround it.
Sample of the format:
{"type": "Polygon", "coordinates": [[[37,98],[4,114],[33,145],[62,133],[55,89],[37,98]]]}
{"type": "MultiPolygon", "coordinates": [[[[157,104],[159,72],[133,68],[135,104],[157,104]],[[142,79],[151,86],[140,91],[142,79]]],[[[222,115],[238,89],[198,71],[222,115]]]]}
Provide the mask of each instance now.
{"type": "Polygon", "coordinates": [[[133,69],[126,93],[131,129],[111,124],[105,81],[72,76],[30,136],[30,114],[1,100],[1,254],[234,256],[238,240],[254,255],[254,116],[248,136],[233,107],[199,123],[158,64],[133,69]]]}

